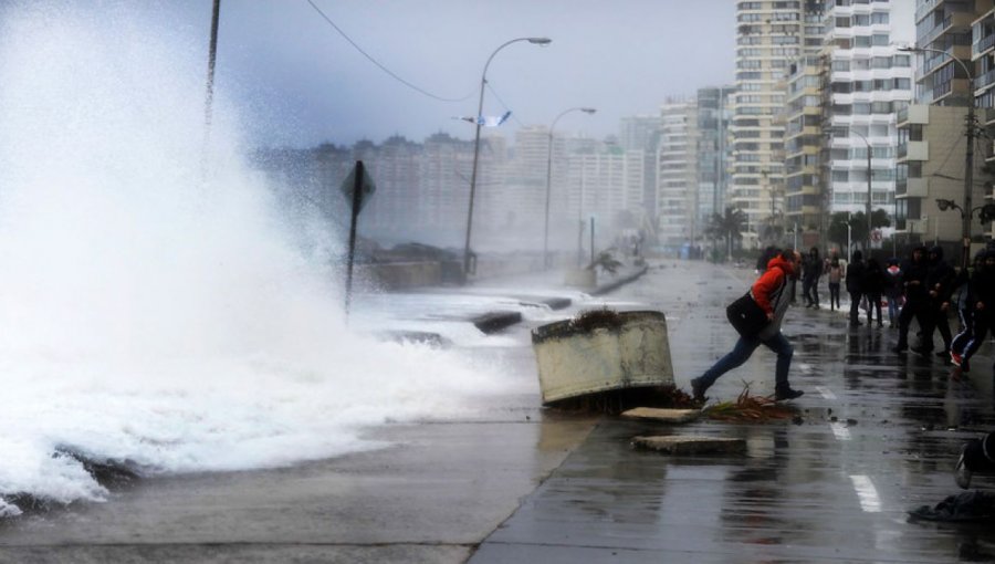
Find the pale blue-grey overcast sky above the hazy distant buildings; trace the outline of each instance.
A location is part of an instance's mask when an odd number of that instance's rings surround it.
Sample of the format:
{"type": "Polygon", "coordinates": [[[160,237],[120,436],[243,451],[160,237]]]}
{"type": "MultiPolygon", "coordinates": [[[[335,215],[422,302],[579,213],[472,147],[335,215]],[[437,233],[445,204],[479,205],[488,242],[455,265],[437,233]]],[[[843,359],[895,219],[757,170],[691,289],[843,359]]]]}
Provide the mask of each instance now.
{"type": "MultiPolygon", "coordinates": [[[[488,56],[507,40],[547,36],[503,49],[488,71],[484,115],[513,112],[503,133],[557,124],[563,133],[616,134],[619,118],[656,114],[669,97],[732,84],[734,0],[312,0],[366,53],[350,45],[307,0],[222,0],[217,88],[242,106],[258,144],[421,142],[436,132],[471,138],[488,56]],[[495,95],[496,94],[496,95],[495,95]]],[[[898,0],[911,38],[913,0],[898,0]]],[[[202,34],[210,0],[187,0],[184,28],[202,34]]],[[[902,19],[904,18],[904,19],[902,19]]]]}

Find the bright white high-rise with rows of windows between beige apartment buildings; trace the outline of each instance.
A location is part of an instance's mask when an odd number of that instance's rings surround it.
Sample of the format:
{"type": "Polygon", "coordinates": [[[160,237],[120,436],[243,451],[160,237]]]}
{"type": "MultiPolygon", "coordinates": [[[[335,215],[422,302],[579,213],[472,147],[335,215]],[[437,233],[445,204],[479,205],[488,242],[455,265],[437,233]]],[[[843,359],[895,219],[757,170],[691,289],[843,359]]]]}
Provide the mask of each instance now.
{"type": "Polygon", "coordinates": [[[896,113],[912,97],[912,66],[891,44],[891,0],[840,0],[826,12],[832,213],[866,211],[870,191],[871,210],[894,216],[896,113]]]}

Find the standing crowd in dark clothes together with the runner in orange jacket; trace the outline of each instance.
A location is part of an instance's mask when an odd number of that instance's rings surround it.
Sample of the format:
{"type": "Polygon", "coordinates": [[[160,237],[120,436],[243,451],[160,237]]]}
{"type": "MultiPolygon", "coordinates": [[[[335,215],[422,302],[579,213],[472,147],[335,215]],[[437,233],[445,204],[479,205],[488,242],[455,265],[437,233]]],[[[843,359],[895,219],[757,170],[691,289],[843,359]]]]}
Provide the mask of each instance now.
{"type": "Polygon", "coordinates": [[[795,295],[795,283],[802,280],[803,299],[806,307],[819,307],[818,283],[825,274],[829,278],[830,309],[839,307],[840,285],[845,284],[850,294],[850,326],[860,325],[859,306],[867,301],[867,322],[883,326],[881,301],[887,299],[888,317],[892,327],[898,326],[899,342],[896,353],[909,349],[908,336],[912,320],[920,328],[920,344],[912,348],[922,355],[933,352],[933,333],[939,331],[943,338],[943,351],[938,356],[950,357],[951,363],[962,372],[970,370],[970,359],[984,343],[992,330],[995,312],[995,249],[980,252],[973,269],[956,272],[943,260],[943,249],[917,247],[903,263],[896,259],[887,261],[887,267],[855,251],[852,260],[842,268],[837,255],[823,261],[817,248],[811,248],[803,259],[793,249],[768,248],[757,262],[763,264],[761,276],[751,288],[750,295],[766,314],[768,323],[756,335],[740,335],[733,349],[720,358],[698,378],[691,380],[695,399],[704,400],[705,391],[729,370],[745,363],[753,352],[765,345],[777,355],[775,369],[775,399],[794,399],[800,390],[788,384],[788,369],[794,351],[781,333],[784,315],[795,295]],[[951,333],[949,316],[955,307],[961,322],[961,331],[951,333]]]}

